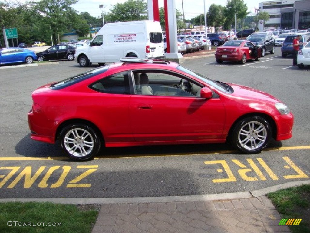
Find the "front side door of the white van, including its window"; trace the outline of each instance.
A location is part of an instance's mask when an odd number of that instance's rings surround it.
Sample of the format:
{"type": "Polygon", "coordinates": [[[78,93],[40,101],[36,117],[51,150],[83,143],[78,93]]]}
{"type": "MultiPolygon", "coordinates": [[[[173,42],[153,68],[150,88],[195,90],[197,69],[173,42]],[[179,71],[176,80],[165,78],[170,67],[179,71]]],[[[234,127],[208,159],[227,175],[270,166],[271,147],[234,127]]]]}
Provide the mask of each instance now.
{"type": "Polygon", "coordinates": [[[104,63],[103,35],[97,35],[90,44],[89,60],[91,62],[104,63]]]}

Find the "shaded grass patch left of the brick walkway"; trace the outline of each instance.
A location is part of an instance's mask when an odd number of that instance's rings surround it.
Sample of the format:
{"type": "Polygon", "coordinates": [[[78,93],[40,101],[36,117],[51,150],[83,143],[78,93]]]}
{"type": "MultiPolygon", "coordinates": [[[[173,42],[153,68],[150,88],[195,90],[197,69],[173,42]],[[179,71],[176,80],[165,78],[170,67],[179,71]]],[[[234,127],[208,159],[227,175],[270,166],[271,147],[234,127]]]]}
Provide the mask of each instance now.
{"type": "Polygon", "coordinates": [[[79,206],[50,202],[0,203],[0,232],[90,233],[95,225],[98,210],[95,205],[79,206]]]}

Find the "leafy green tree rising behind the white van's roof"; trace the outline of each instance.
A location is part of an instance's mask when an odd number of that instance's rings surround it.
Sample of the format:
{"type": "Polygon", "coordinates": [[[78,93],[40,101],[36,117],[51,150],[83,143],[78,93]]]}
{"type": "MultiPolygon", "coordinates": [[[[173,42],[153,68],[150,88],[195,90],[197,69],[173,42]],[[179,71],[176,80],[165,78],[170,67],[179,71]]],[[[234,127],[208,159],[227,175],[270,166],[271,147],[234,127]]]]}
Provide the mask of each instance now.
{"type": "Polygon", "coordinates": [[[125,22],[147,20],[147,2],[144,0],[127,0],[113,6],[111,13],[105,16],[107,22],[125,22]]]}

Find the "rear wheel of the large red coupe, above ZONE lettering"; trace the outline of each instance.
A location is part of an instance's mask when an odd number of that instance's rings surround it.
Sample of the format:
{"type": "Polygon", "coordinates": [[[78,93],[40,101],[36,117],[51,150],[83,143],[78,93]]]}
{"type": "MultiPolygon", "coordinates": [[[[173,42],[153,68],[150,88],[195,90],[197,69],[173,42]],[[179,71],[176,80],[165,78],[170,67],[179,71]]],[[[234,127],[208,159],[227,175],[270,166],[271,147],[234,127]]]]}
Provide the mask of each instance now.
{"type": "Polygon", "coordinates": [[[60,131],[59,142],[67,156],[75,161],[93,158],[101,147],[97,132],[85,124],[71,124],[60,131]]]}

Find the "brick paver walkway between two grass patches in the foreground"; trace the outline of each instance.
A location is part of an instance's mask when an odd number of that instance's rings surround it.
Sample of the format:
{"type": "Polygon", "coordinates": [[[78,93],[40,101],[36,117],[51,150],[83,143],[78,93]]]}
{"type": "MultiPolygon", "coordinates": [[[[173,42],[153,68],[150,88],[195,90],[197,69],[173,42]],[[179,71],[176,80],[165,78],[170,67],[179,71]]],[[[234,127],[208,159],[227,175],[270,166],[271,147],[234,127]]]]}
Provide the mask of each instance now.
{"type": "Polygon", "coordinates": [[[266,196],[219,201],[103,204],[92,233],[290,232],[266,196]]]}

